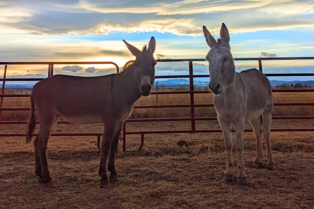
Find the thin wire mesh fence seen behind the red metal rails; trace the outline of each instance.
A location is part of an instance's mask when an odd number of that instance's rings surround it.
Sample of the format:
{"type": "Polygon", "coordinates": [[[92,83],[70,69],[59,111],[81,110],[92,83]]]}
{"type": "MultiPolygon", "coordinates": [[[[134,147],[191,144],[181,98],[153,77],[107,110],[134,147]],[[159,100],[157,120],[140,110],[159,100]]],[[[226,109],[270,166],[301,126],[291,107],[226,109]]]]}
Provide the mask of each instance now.
{"type": "MultiPolygon", "coordinates": [[[[26,85],[34,86],[37,81],[28,82],[26,85]]],[[[189,84],[185,81],[156,81],[153,91],[189,91],[189,84]],[[182,84],[183,82],[183,84],[182,84]],[[161,85],[161,84],[162,85],[161,85]]],[[[24,82],[25,83],[25,82],[24,82]]],[[[198,82],[199,83],[199,82],[198,82]]],[[[204,83],[204,82],[203,82],[204,83]]],[[[18,85],[21,85],[20,83],[18,85]]],[[[6,94],[30,94],[30,89],[10,88],[5,89],[6,94]]],[[[313,88],[314,85],[287,84],[273,86],[273,89],[306,89],[313,88]]],[[[195,91],[208,91],[205,85],[194,85],[195,91]]],[[[212,93],[195,93],[195,104],[208,104],[213,102],[212,93]]],[[[273,92],[273,102],[314,102],[314,92],[273,92]]],[[[190,94],[154,94],[148,97],[141,97],[135,105],[167,105],[167,104],[189,104],[190,94]]],[[[28,97],[4,97],[3,107],[30,107],[28,97]]],[[[19,121],[27,120],[28,111],[3,111],[1,120],[19,121]]],[[[134,109],[130,118],[181,118],[189,117],[191,109],[189,107],[171,108],[143,108],[134,109]]],[[[312,106],[275,106],[273,116],[308,116],[314,115],[312,106]]],[[[216,117],[214,107],[195,107],[195,117],[216,117]]]]}

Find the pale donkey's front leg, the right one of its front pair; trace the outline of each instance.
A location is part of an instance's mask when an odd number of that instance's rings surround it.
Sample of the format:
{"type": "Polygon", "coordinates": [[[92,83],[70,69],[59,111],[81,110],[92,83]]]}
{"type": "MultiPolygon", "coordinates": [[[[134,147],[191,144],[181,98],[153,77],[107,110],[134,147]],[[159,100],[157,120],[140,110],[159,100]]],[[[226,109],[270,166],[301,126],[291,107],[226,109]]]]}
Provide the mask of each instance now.
{"type": "Polygon", "coordinates": [[[243,129],[244,129],[244,119],[240,119],[235,123],[236,127],[236,140],[235,140],[235,148],[238,154],[238,182],[240,185],[245,186],[247,184],[246,174],[244,173],[244,162],[243,162],[243,129]]]}

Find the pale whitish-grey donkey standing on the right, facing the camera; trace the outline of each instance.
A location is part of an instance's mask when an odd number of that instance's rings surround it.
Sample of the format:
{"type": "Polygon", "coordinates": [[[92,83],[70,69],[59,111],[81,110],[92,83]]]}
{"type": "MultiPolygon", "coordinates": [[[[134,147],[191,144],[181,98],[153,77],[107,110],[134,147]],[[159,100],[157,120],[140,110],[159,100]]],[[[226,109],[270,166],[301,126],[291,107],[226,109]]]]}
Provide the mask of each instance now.
{"type": "Polygon", "coordinates": [[[270,148],[270,125],[273,108],[272,87],[268,78],[257,69],[237,73],[230,52],[229,32],[223,23],[220,39],[214,37],[203,26],[204,36],[211,48],[206,56],[209,62],[209,89],[213,91],[214,106],[218,121],[224,134],[227,152],[227,170],[225,180],[233,181],[231,124],[236,128],[235,148],[238,154],[238,182],[246,185],[246,174],[243,163],[243,129],[249,120],[256,136],[257,152],[254,167],[262,166],[262,128],[258,117],[263,115],[263,133],[266,142],[268,168],[275,169],[275,162],[270,148]]]}

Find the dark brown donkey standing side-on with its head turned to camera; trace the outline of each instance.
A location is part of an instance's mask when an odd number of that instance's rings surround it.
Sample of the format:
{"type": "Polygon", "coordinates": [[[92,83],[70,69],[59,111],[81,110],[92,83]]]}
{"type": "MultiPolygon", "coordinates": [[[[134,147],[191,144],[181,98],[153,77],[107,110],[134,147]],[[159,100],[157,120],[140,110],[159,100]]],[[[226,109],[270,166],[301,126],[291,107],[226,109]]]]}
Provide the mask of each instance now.
{"type": "Polygon", "coordinates": [[[156,46],[154,37],[150,39],[148,48],[144,46],[142,51],[123,41],[136,59],[122,73],[96,77],[55,75],[34,86],[30,96],[31,111],[26,143],[30,143],[35,129],[36,107],[40,129],[34,140],[35,174],[41,183],[55,186],[49,174],[47,148],[51,131],[60,118],[76,124],[104,124],[98,172],[101,177],[100,186],[110,187],[106,175],[108,155],[110,181],[118,180],[114,163],[121,128],[130,116],[134,103],[142,95],[150,94],[156,65],[153,56],[156,46]]]}

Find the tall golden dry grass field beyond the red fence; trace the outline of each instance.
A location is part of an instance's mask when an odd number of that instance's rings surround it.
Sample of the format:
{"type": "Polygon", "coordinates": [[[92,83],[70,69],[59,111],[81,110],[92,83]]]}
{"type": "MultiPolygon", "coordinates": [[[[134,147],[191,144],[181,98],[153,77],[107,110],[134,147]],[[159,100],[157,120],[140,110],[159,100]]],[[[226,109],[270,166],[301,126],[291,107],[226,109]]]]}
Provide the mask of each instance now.
{"type": "MultiPolygon", "coordinates": [[[[177,89],[188,90],[188,89],[177,89]]],[[[165,89],[163,91],[166,91],[165,89]]],[[[12,91],[8,93],[30,93],[12,91]]],[[[314,102],[314,92],[274,92],[273,102],[314,102]]],[[[137,105],[155,105],[155,104],[189,104],[189,94],[174,95],[150,95],[149,97],[141,97],[137,101],[137,105]],[[156,97],[157,102],[156,102],[156,97]]],[[[195,104],[213,103],[213,94],[194,94],[195,104]]],[[[30,107],[28,97],[5,97],[3,107],[30,107]]],[[[148,108],[134,109],[131,118],[175,118],[190,116],[190,108],[148,108]]],[[[4,111],[1,120],[27,120],[28,111],[4,111]]],[[[312,106],[275,106],[273,108],[273,116],[306,116],[314,115],[312,106]]],[[[214,107],[196,107],[196,117],[215,117],[214,107]]]]}

